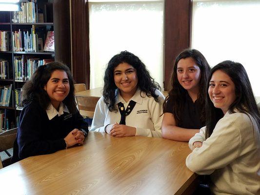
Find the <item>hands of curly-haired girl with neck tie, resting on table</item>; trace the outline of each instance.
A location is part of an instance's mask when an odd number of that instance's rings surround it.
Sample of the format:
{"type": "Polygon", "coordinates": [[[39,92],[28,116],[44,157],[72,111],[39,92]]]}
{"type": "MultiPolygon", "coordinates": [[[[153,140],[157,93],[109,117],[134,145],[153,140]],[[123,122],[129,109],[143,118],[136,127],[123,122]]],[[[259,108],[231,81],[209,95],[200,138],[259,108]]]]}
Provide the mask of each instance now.
{"type": "Polygon", "coordinates": [[[115,123],[108,125],[106,132],[114,137],[128,137],[136,135],[136,128],[115,123]]]}

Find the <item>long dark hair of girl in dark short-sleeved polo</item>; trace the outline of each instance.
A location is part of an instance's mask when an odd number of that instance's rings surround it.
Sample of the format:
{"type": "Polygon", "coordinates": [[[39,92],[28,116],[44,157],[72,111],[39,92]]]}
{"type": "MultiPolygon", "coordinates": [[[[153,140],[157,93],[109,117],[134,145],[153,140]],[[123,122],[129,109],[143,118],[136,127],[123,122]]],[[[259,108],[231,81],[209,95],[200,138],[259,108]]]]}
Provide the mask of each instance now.
{"type": "MultiPolygon", "coordinates": [[[[205,59],[205,57],[196,49],[185,49],[183,50],[175,59],[175,63],[173,66],[172,78],[171,78],[171,89],[169,91],[169,95],[165,98],[163,102],[163,113],[166,109],[166,102],[169,100],[173,103],[173,114],[176,120],[176,123],[180,121],[180,112],[182,112],[184,104],[185,104],[185,95],[187,90],[185,90],[181,85],[177,77],[177,66],[180,59],[192,58],[196,62],[196,65],[200,67],[200,91],[198,95],[197,101],[200,102],[200,105],[204,107],[205,97],[206,97],[206,85],[207,80],[210,73],[210,66],[205,59]]],[[[205,109],[202,109],[202,113],[200,115],[200,120],[204,124],[205,123],[205,109]]]]}

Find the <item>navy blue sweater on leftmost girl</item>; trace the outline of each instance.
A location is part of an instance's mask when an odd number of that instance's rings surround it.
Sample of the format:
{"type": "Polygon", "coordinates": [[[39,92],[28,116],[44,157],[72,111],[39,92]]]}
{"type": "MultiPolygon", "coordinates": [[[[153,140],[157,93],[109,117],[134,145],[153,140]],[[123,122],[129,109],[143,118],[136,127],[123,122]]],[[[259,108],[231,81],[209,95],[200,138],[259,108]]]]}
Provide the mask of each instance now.
{"type": "Polygon", "coordinates": [[[73,129],[88,133],[88,124],[80,113],[65,113],[49,120],[39,103],[26,105],[20,114],[20,127],[14,143],[12,162],[28,156],[46,155],[65,149],[65,138],[73,129]]]}

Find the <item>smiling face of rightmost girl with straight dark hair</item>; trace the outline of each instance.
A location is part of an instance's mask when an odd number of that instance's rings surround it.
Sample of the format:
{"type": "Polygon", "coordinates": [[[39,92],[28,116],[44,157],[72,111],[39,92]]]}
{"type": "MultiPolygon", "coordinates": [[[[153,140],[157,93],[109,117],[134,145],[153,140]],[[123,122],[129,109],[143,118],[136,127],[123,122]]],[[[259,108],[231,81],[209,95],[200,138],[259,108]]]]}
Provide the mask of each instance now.
{"type": "Polygon", "coordinates": [[[223,71],[213,73],[208,89],[209,97],[216,108],[220,108],[224,114],[236,99],[235,84],[223,71]]]}

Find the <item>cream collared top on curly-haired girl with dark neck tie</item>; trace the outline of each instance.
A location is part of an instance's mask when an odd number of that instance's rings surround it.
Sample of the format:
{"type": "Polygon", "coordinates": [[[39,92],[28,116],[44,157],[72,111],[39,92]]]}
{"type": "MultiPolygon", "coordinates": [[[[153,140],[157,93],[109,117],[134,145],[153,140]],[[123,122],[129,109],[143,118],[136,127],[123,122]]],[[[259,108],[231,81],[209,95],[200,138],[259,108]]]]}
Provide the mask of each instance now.
{"type": "MultiPolygon", "coordinates": [[[[125,117],[125,124],[127,126],[136,127],[136,136],[145,137],[161,137],[161,122],[162,122],[162,104],[164,96],[159,90],[155,91],[159,95],[159,102],[156,102],[153,97],[147,97],[145,93],[138,89],[135,95],[127,102],[117,93],[115,105],[122,102],[124,108],[128,106],[130,100],[136,102],[132,112],[125,117]]],[[[94,118],[92,121],[90,131],[105,132],[105,126],[120,122],[120,112],[110,112],[108,106],[105,104],[103,97],[97,103],[94,118]]]]}

